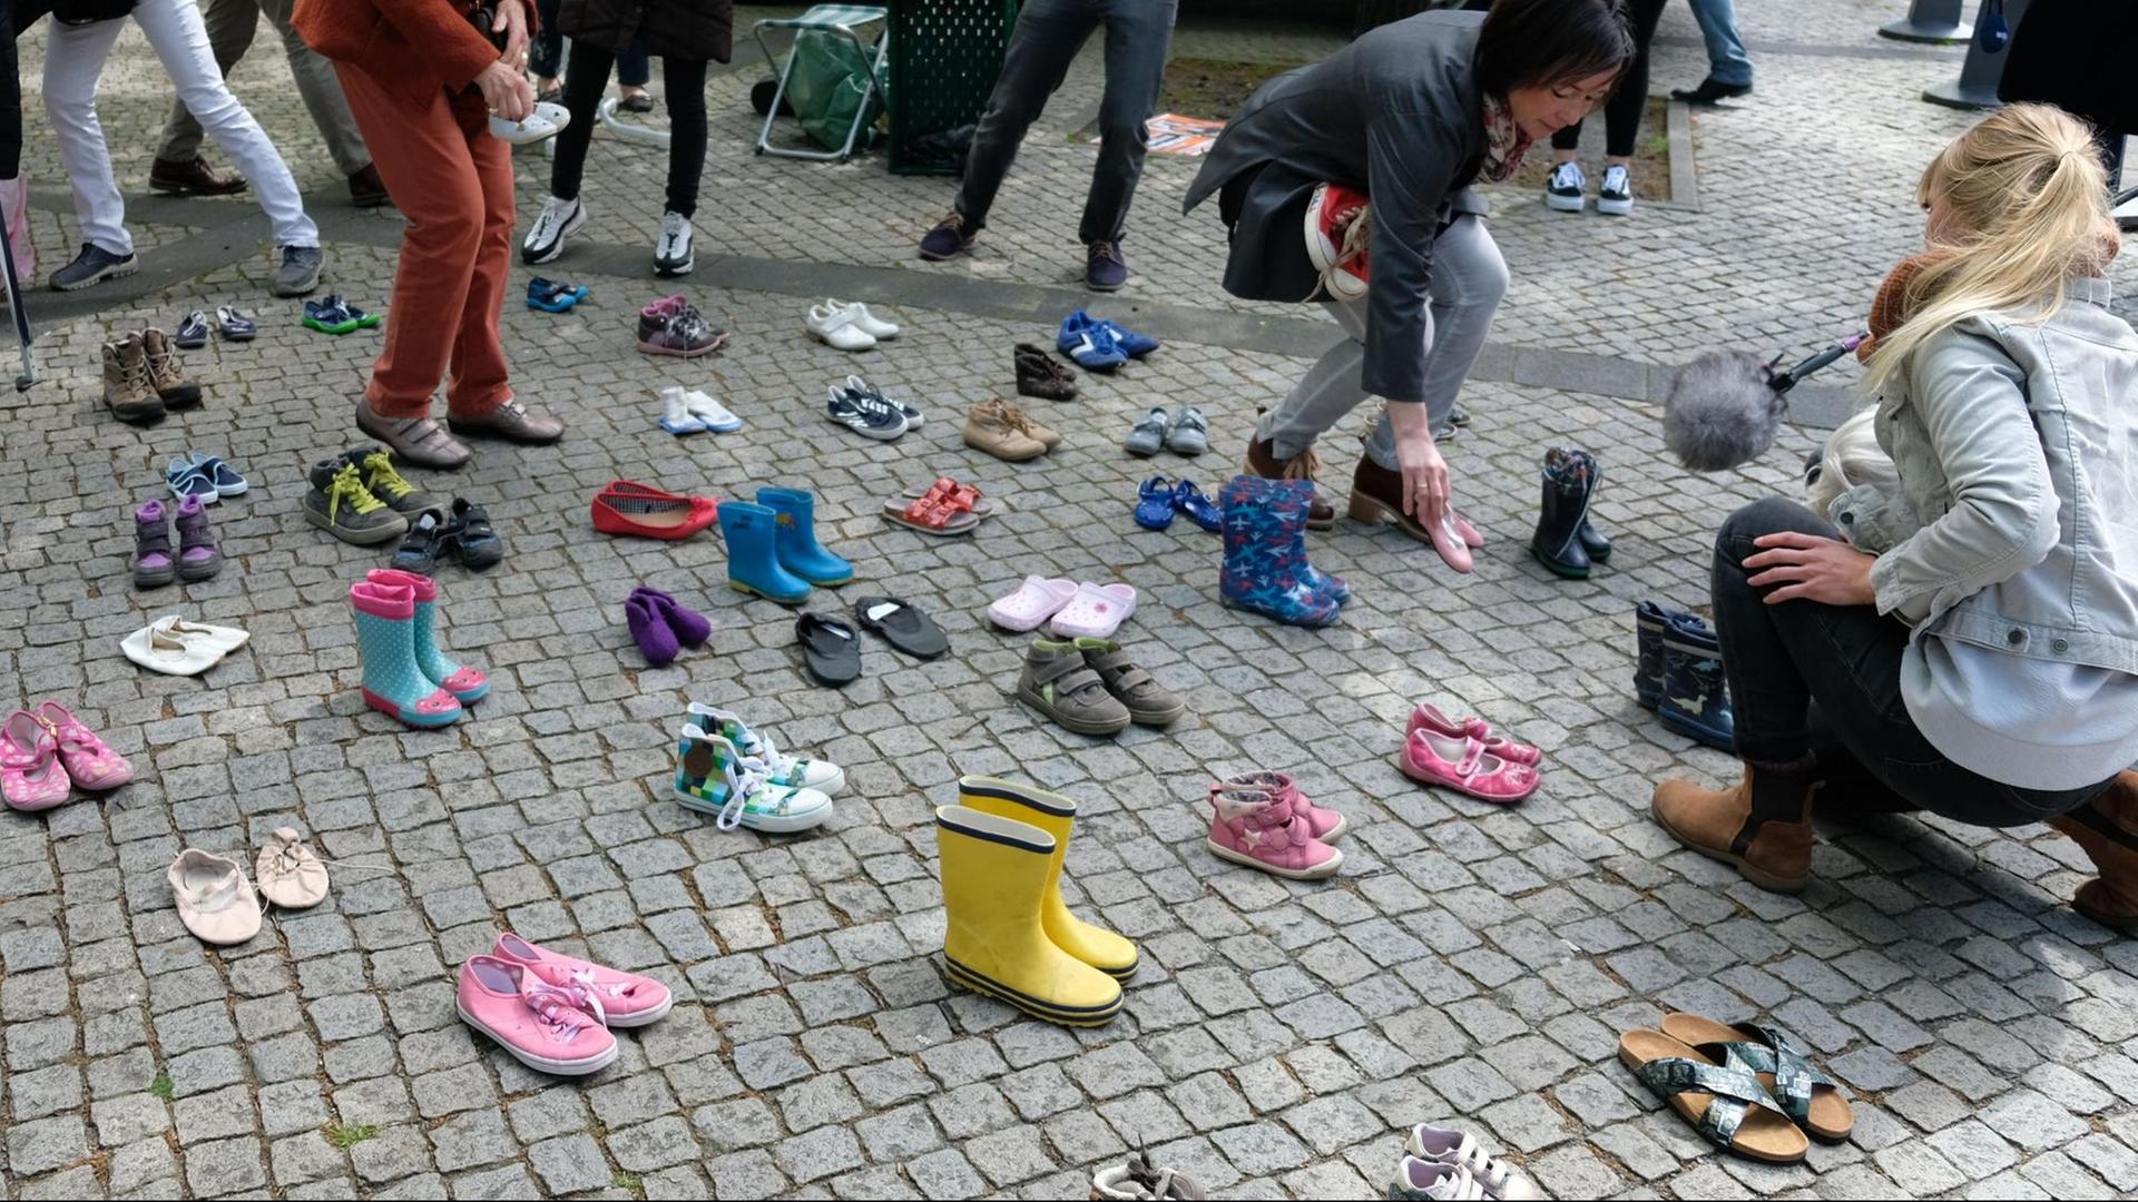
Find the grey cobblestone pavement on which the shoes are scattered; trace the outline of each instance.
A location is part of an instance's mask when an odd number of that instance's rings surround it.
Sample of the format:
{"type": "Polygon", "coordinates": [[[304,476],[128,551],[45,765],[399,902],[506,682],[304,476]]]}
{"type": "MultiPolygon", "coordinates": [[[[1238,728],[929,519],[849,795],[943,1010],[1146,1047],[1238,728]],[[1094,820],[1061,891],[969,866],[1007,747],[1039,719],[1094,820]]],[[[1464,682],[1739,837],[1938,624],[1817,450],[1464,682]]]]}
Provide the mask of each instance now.
{"type": "MultiPolygon", "coordinates": [[[[1956,71],[1956,51],[1877,56],[1869,30],[1899,4],[1740,9],[1755,38],[1802,45],[1762,53],[1751,101],[1698,118],[1698,210],[1608,222],[1503,197],[1494,220],[1516,276],[1503,342],[1631,361],[1713,338],[1813,342],[1847,327],[1911,244],[1916,171],[1965,124],[1911,96],[1956,71]]],[[[1680,9],[1663,32],[1689,36],[1680,9]]],[[[24,41],[32,96],[38,43],[24,41]]],[[[1182,53],[1285,60],[1328,45],[1180,34],[1182,53]]],[[[1657,88],[1691,81],[1693,53],[1666,45],[1657,88]]],[[[1452,447],[1490,539],[1475,575],[1341,524],[1313,539],[1317,565],[1355,592],[1338,627],[1244,618],[1217,605],[1214,539],[1137,530],[1129,496],[1150,471],[1219,483],[1251,409],[1302,359],[1176,340],[1088,381],[1084,400],[1033,402],[1069,436],[1037,464],[1009,468],[958,441],[964,406],[1009,387],[1007,344],[1086,302],[1063,289],[1075,261],[1060,231],[1090,152],[1060,135],[1095,96],[1095,62],[1035,133],[990,250],[947,267],[911,263],[943,182],[885,178],[879,160],[753,158],[738,109],[753,77],[714,81],[701,252],[851,267],[847,291],[909,334],[840,357],[800,336],[800,299],[770,289],[772,274],[701,274],[691,291],[735,332],[731,349],[691,368],[635,355],[624,332],[654,289],[626,272],[648,255],[661,160],[599,139],[592,244],[549,272],[594,267],[592,302],[505,314],[524,396],[564,413],[571,438],[485,445],[470,468],[425,481],[487,503],[511,548],[492,573],[440,575],[447,646],[498,682],[443,731],[361,706],[342,597],[381,556],[297,511],[304,466],[351,438],[374,336],[312,336],[295,304],[265,299],[250,210],[137,205],[173,222],[137,227],[148,269],[210,267],[141,295],[113,284],[96,312],[41,323],[47,383],[0,398],[0,704],[58,697],[139,779],[109,800],[0,815],[0,1196],[1063,1198],[1148,1144],[1223,1196],[1360,1198],[1392,1172],[1400,1129],[1435,1119],[1479,1129],[1563,1198],[2138,1189],[2138,954],[2063,905],[2085,875],[2074,845],[2046,828],[1830,813],[1811,890],[1783,898],[1676,849],[1646,817],[1659,774],[1732,764],[1633,706],[1629,610],[1646,597],[1700,607],[1713,526],[1787,490],[1807,436],[1747,471],[1689,477],[1663,462],[1648,404],[1482,383],[1475,426],[1452,447]],[[1003,282],[1043,287],[1045,304],[1009,319],[998,299],[960,299],[1003,282]],[[913,304],[924,287],[936,299],[913,304]],[[263,332],[188,355],[210,402],[154,430],[113,423],[98,340],[227,299],[257,306],[263,332]],[[919,400],[928,426],[892,447],[838,436],[815,398],[849,370],[919,400]],[[723,394],[746,432],[656,432],[648,394],[669,379],[723,394]],[[1125,458],[1116,443],[1146,404],[1206,406],[1210,456],[1125,458]],[[1552,580],[1520,550],[1539,430],[1610,468],[1599,520],[1618,552],[1591,582],[1552,580]],[[188,447],[229,453],[254,481],[216,509],[231,563],[210,584],[137,592],[126,507],[158,494],[160,464],[188,447]],[[964,541],[877,518],[879,498],[939,473],[979,481],[1007,513],[964,541]],[[857,684],[808,687],[791,616],[721,588],[710,535],[665,545],[590,530],[588,496],[611,477],[710,494],[808,481],[827,541],[859,569],[845,595],[881,588],[932,610],[954,654],[915,665],[870,644],[857,684]],[[1095,742],[1007,699],[1022,639],[979,612],[1028,571],[1135,584],[1144,607],[1127,639],[1191,716],[1095,742]],[[712,646],[648,667],[618,614],[639,582],[710,612],[712,646]],[[252,642],[197,680],[141,674],[118,637],[165,612],[242,625],[252,642]],[[842,764],[838,817],[763,838],[669,802],[686,697],[842,764]],[[1407,783],[1390,757],[1417,699],[1539,742],[1544,789],[1494,808],[1407,783]],[[1283,883],[1204,849],[1206,781],[1257,766],[1296,772],[1351,817],[1336,879],[1283,883]],[[1026,776],[1084,806],[1071,903],[1133,937],[1146,965],[1112,1024],[1043,1027],[945,984],[930,806],[954,800],[962,772],[1026,776]],[[284,823],[344,864],[334,896],[242,947],[205,950],[177,924],[165,864],[188,845],[250,860],[284,823]],[[498,928],[654,973],[684,1005],[624,1035],[622,1059],[588,1082],[532,1076],[451,1007],[453,965],[498,928]],[[1666,1007],[1798,1033],[1856,1095],[1854,1138],[1794,1168],[1708,1155],[1612,1054],[1618,1031],[1666,1007]]],[[[272,38],[237,88],[319,184],[334,287],[383,302],[396,218],[346,210],[272,38]]],[[[143,182],[167,94],[139,36],[122,38],[105,128],[128,186],[143,182]]],[[[28,124],[49,272],[73,218],[34,103],[28,124]]],[[[532,205],[543,160],[520,167],[532,205]]],[[[1238,308],[1214,284],[1214,218],[1169,212],[1189,169],[1152,163],[1131,244],[1140,280],[1103,310],[1238,308]]],[[[1362,421],[1326,445],[1338,486],[1362,421]]]]}

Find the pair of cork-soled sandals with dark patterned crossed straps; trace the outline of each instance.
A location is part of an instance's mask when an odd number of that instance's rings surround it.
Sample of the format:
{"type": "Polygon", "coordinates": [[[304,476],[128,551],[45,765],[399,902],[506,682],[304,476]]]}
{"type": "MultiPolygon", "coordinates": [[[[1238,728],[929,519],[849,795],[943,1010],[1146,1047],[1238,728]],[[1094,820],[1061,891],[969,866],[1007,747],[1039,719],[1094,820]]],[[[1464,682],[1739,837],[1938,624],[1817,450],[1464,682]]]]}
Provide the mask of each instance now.
{"type": "Polygon", "coordinates": [[[1661,1031],[1627,1031],[1618,1061],[1723,1151],[1796,1164],[1811,1136],[1841,1142],[1856,1112],[1834,1080],[1772,1027],[1725,1027],[1698,1014],[1666,1014],[1661,1031]]]}

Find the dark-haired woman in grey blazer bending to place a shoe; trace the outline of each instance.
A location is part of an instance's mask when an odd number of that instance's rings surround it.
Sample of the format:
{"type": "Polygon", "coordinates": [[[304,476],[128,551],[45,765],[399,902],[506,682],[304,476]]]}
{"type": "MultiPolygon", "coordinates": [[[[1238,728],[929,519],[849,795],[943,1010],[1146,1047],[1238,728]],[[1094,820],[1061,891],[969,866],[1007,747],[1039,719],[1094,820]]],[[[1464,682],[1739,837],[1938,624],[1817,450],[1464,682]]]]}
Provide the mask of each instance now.
{"type": "MultiPolygon", "coordinates": [[[[1246,471],[1311,477],[1313,443],[1368,396],[1388,411],[1351,479],[1353,515],[1398,515],[1430,541],[1447,511],[1432,430],[1454,409],[1507,265],[1469,186],[1503,180],[1531,143],[1595,109],[1633,58],[1621,0],[1499,0],[1422,13],[1270,79],[1234,115],[1189,188],[1231,231],[1225,291],[1304,302],[1323,291],[1306,210],[1330,184],[1370,199],[1370,244],[1349,261],[1362,299],[1330,302],[1345,340],[1261,417],[1246,471]]],[[[1317,496],[1308,526],[1334,511],[1317,496]]]]}

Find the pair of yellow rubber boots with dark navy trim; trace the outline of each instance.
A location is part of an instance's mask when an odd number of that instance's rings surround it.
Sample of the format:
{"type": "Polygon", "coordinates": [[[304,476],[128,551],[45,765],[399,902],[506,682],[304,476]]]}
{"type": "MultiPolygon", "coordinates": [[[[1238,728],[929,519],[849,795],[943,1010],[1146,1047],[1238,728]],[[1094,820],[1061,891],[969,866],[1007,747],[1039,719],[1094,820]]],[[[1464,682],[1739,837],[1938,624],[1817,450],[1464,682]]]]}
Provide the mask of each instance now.
{"type": "Polygon", "coordinates": [[[936,811],[951,980],[1067,1027],[1120,1014],[1135,945],[1060,898],[1075,802],[992,776],[962,779],[958,802],[936,811]]]}

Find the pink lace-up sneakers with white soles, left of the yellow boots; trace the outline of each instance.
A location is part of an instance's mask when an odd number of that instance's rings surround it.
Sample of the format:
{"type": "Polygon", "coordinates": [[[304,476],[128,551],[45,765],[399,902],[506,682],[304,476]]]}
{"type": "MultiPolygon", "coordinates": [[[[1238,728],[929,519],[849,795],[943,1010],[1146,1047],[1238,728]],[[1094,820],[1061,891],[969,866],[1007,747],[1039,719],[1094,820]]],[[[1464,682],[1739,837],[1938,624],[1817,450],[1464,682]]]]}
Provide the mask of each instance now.
{"type": "Polygon", "coordinates": [[[513,933],[460,967],[460,1018],[530,1069],[586,1076],[616,1061],[611,1027],[646,1027],[676,1005],[652,977],[545,952],[513,933]]]}

